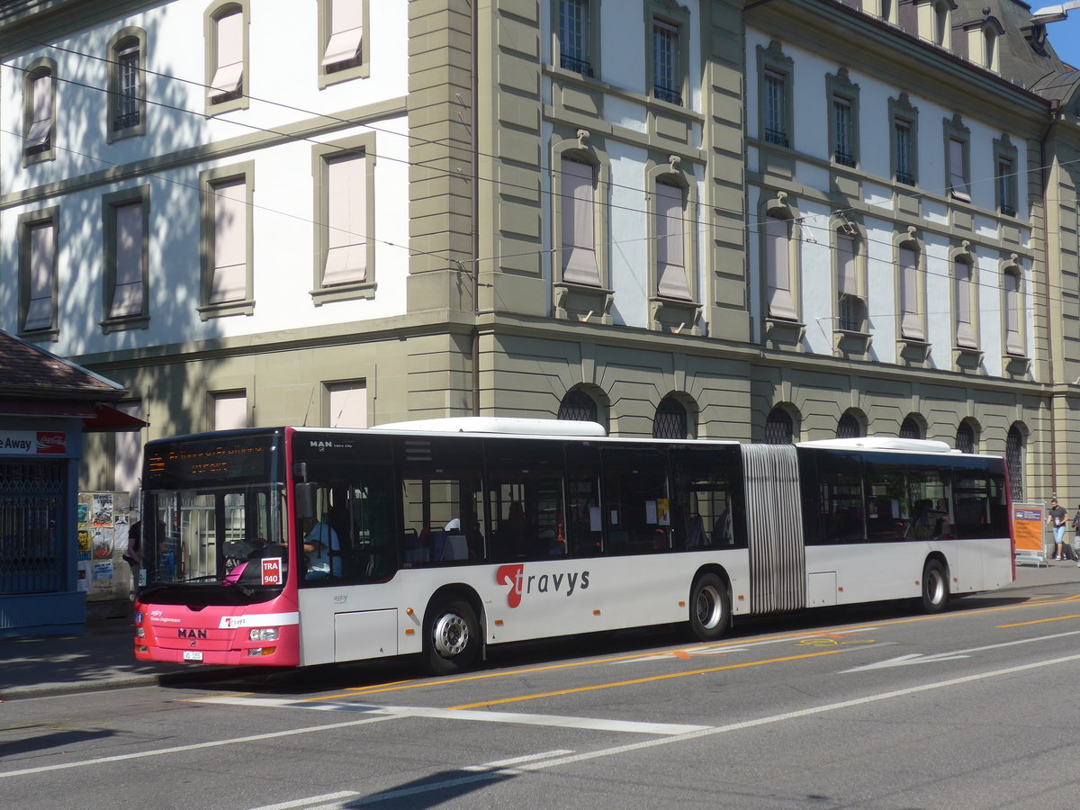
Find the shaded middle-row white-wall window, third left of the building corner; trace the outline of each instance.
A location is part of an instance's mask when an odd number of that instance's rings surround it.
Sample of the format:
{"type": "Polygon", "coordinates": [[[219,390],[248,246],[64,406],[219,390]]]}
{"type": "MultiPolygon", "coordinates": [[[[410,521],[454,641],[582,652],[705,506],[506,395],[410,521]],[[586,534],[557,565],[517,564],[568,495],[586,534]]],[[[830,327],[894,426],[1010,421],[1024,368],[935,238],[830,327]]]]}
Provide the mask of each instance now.
{"type": "Polygon", "coordinates": [[[106,332],[147,324],[149,257],[148,187],[108,194],[104,199],[106,332]]]}

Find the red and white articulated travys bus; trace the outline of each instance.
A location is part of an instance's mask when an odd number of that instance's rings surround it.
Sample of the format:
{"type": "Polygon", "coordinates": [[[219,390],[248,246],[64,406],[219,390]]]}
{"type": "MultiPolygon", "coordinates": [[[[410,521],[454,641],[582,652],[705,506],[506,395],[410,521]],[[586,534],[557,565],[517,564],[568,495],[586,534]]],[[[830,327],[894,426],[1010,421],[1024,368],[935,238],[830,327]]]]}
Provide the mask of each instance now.
{"type": "Polygon", "coordinates": [[[302,666],[953,594],[1015,576],[1001,458],[457,418],[150,442],[136,658],[302,666]]]}

